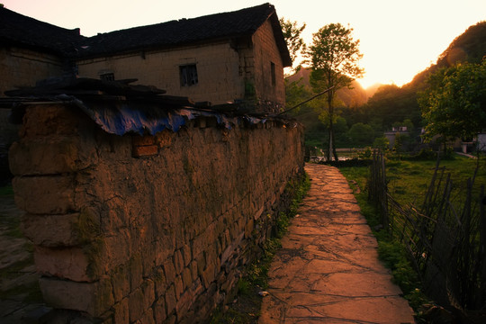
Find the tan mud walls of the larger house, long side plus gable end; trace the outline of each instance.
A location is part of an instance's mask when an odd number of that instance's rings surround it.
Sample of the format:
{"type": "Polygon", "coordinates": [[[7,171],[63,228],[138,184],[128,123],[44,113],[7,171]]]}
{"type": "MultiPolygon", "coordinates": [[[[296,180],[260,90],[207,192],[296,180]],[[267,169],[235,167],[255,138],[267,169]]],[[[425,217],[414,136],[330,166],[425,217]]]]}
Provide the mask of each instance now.
{"type": "Polygon", "coordinates": [[[99,78],[112,72],[115,79],[137,78],[141,85],[155,85],[167,94],[187,96],[212,104],[246,99],[252,110],[279,112],[285,103],[284,67],[271,23],[264,23],[251,40],[170,50],[78,60],[79,76],[99,78]],[[275,64],[275,85],[271,63],[275,64]],[[181,86],[179,67],[196,64],[198,85],[181,86]]]}

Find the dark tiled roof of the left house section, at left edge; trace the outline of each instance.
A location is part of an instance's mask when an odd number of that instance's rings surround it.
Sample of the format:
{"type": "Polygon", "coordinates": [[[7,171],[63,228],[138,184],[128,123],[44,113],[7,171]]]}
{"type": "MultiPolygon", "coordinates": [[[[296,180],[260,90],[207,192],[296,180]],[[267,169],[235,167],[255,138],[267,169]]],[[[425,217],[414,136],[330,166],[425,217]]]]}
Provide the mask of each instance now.
{"type": "Polygon", "coordinates": [[[85,40],[79,29],[67,30],[0,7],[0,46],[22,45],[58,55],[73,55],[85,40]]]}

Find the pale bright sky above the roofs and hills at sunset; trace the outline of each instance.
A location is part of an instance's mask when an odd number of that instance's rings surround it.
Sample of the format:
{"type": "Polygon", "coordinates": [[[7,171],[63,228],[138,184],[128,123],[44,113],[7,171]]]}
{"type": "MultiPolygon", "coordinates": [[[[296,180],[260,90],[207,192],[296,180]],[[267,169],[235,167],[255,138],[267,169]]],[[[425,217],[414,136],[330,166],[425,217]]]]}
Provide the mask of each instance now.
{"type": "Polygon", "coordinates": [[[85,36],[234,11],[270,2],[279,18],[306,23],[303,38],[328,23],[352,28],[364,57],[358,81],[403,85],[436,63],[469,26],[486,21],[486,0],[0,0],[14,12],[85,36]]]}

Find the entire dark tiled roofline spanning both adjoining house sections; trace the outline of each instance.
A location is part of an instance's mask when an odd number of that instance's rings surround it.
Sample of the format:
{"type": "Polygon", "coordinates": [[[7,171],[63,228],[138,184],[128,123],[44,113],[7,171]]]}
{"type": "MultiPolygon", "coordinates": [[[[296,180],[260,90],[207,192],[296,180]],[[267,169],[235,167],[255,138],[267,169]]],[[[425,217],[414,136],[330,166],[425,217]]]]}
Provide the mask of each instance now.
{"type": "MultiPolygon", "coordinates": [[[[101,57],[121,52],[171,48],[180,45],[251,35],[269,20],[284,66],[292,65],[275,7],[260,4],[235,12],[112,31],[86,38],[67,30],[0,8],[2,43],[49,50],[70,58],[101,57]]],[[[1,43],[0,43],[1,45],[1,43]]]]}

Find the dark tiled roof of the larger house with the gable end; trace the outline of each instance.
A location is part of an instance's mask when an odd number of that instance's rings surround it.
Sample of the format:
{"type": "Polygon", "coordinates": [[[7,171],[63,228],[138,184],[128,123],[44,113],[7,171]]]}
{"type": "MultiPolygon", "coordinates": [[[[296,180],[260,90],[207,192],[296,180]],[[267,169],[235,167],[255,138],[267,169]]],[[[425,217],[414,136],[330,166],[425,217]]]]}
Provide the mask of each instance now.
{"type": "Polygon", "coordinates": [[[134,49],[166,48],[229,39],[253,34],[267,19],[270,19],[274,28],[275,40],[284,63],[289,63],[288,49],[272,4],[98,34],[88,39],[79,53],[82,57],[100,56],[134,49]]]}

